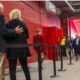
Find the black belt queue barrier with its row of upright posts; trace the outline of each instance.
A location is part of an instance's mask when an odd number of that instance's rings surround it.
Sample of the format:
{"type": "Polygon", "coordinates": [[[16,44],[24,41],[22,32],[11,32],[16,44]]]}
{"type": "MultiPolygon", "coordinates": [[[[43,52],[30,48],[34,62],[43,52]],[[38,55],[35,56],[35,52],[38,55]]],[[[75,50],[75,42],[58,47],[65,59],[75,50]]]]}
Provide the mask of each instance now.
{"type": "MultiPolygon", "coordinates": [[[[22,47],[29,47],[29,46],[37,46],[38,50],[38,76],[39,80],[42,80],[42,63],[41,63],[41,53],[40,53],[40,46],[44,46],[45,48],[52,48],[52,54],[53,54],[53,75],[51,77],[56,77],[56,56],[55,56],[55,49],[58,46],[54,45],[48,45],[48,44],[43,44],[43,43],[37,43],[37,44],[6,44],[5,46],[3,44],[0,44],[0,48],[22,48],[22,47]]],[[[61,48],[61,46],[60,46],[61,48]]],[[[71,64],[71,53],[70,53],[70,64],[71,64]]],[[[63,55],[61,52],[61,71],[63,71],[63,55]]]]}

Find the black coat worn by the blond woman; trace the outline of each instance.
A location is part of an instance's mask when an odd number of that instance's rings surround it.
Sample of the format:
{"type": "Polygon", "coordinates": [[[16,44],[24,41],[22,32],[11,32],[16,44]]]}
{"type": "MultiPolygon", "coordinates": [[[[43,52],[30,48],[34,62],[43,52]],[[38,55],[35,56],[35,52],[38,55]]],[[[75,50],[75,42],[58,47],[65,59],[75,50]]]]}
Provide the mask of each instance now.
{"type": "MultiPolygon", "coordinates": [[[[14,29],[16,26],[20,26],[23,28],[24,32],[22,34],[16,34],[16,36],[9,37],[7,39],[8,43],[11,44],[27,44],[27,39],[29,38],[29,33],[27,26],[23,23],[23,21],[14,19],[8,22],[7,27],[9,29],[14,29]]],[[[28,47],[25,48],[8,48],[7,50],[8,58],[23,58],[30,56],[30,51],[28,47]]]]}

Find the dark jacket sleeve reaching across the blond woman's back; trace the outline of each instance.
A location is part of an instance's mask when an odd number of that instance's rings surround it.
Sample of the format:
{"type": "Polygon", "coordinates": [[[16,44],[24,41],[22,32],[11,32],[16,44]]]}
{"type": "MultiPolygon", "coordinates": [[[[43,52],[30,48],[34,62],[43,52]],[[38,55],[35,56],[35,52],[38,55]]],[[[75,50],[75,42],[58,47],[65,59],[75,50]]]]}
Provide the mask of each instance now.
{"type": "Polygon", "coordinates": [[[0,25],[0,35],[14,36],[14,35],[16,35],[16,31],[14,29],[6,28],[6,25],[0,25]]]}

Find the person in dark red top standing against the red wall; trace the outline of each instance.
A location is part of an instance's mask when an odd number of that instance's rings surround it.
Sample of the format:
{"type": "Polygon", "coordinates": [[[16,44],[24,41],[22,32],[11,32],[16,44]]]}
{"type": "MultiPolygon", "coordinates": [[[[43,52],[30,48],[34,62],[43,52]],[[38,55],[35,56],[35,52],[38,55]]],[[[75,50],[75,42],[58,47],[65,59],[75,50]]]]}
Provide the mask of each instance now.
{"type": "MultiPolygon", "coordinates": [[[[34,44],[35,43],[44,43],[42,30],[40,28],[38,28],[36,30],[36,35],[33,36],[33,43],[34,44]]],[[[38,47],[34,47],[34,50],[36,52],[37,52],[37,49],[38,49],[38,47]]],[[[42,63],[43,63],[45,53],[44,53],[44,48],[42,46],[40,47],[40,52],[41,52],[41,59],[42,59],[42,63]]]]}

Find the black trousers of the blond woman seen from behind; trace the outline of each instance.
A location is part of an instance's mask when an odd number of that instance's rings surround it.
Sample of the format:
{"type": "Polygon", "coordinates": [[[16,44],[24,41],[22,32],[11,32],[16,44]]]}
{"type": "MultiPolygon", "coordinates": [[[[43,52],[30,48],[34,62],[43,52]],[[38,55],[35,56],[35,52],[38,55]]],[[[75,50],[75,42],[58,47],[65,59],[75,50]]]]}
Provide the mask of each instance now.
{"type": "MultiPolygon", "coordinates": [[[[29,68],[27,65],[27,59],[19,58],[19,61],[24,71],[26,80],[31,80],[29,68]]],[[[9,59],[10,80],[16,80],[16,63],[17,63],[17,59],[9,59]]]]}

